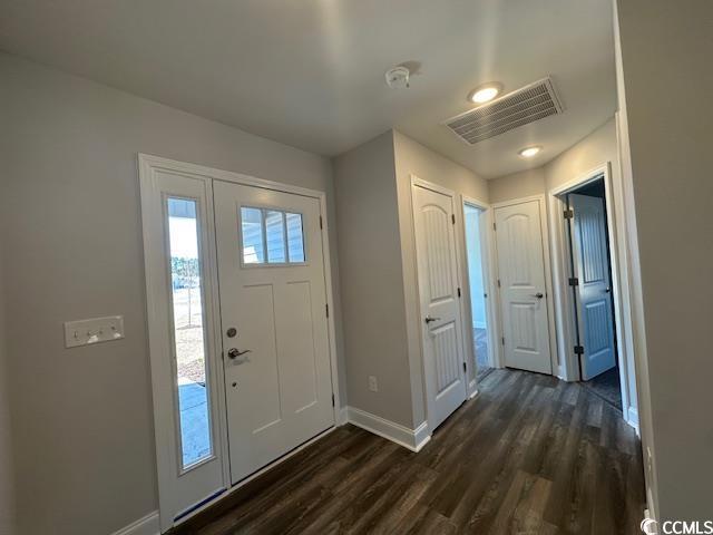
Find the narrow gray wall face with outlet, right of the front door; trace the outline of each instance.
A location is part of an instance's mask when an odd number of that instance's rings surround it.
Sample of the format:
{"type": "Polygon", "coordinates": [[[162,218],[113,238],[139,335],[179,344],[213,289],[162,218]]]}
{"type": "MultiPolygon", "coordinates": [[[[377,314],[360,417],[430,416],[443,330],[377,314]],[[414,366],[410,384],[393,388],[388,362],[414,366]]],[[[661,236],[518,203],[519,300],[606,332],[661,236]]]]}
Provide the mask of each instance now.
{"type": "Polygon", "coordinates": [[[392,132],[334,158],[334,178],[349,405],[412,427],[392,132]]]}

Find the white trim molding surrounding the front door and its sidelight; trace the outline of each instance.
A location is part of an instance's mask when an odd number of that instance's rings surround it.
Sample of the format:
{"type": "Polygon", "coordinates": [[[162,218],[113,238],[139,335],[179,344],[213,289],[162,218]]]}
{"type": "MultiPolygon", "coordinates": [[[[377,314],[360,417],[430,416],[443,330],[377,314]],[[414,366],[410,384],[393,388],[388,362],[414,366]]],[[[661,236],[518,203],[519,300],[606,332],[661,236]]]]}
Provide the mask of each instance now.
{"type": "MultiPolygon", "coordinates": [[[[301,186],[294,186],[294,185],[290,185],[290,184],[283,184],[283,183],[279,183],[279,182],[273,182],[273,181],[266,181],[263,178],[257,178],[254,176],[250,176],[250,175],[245,175],[245,174],[241,174],[241,173],[234,173],[231,171],[223,171],[223,169],[216,169],[213,167],[206,167],[203,165],[197,165],[197,164],[192,164],[192,163],[186,163],[186,162],[178,162],[178,160],[174,160],[174,159],[169,159],[169,158],[163,158],[160,156],[155,156],[155,155],[149,155],[149,154],[144,154],[144,153],[138,153],[137,155],[137,163],[138,163],[138,179],[139,179],[139,186],[140,186],[140,191],[141,191],[141,211],[143,211],[143,235],[144,235],[144,255],[145,255],[145,261],[146,261],[146,301],[147,301],[147,327],[148,327],[148,338],[149,338],[149,360],[152,360],[153,362],[153,356],[156,353],[157,351],[157,343],[165,343],[165,337],[166,333],[163,331],[163,329],[160,328],[160,325],[156,324],[157,323],[157,319],[155,315],[155,310],[154,310],[154,304],[156,302],[157,299],[162,299],[160,294],[159,294],[159,289],[156,286],[156,283],[153,282],[153,276],[152,276],[152,266],[149,265],[148,262],[148,257],[150,254],[149,251],[149,242],[153,243],[152,240],[148,240],[149,234],[147,234],[148,232],[148,226],[147,226],[147,216],[150,214],[150,211],[153,210],[153,205],[148,202],[149,197],[152,197],[152,192],[153,192],[153,185],[152,185],[152,178],[154,176],[154,173],[156,171],[165,171],[168,173],[173,173],[173,174],[177,174],[177,175],[183,175],[186,177],[192,177],[192,178],[199,178],[204,182],[211,183],[212,185],[212,181],[223,181],[223,182],[229,182],[229,183],[234,183],[234,184],[242,184],[242,185],[246,185],[246,186],[254,186],[254,187],[261,187],[261,188],[265,188],[265,189],[273,189],[273,191],[279,191],[279,192],[284,192],[284,193],[291,193],[291,194],[295,194],[295,195],[302,195],[302,196],[307,196],[307,197],[314,197],[320,202],[320,215],[322,216],[322,249],[323,249],[323,256],[324,256],[324,284],[325,284],[325,299],[326,299],[326,304],[329,305],[329,310],[331,311],[331,313],[329,314],[329,317],[326,318],[328,320],[328,334],[329,334],[329,351],[330,351],[330,363],[331,363],[331,380],[332,380],[332,392],[334,395],[334,408],[333,408],[333,415],[334,415],[334,425],[338,425],[340,422],[340,420],[343,418],[343,415],[341,412],[341,392],[340,392],[340,388],[339,388],[339,359],[336,358],[336,328],[335,328],[335,322],[334,322],[334,294],[333,294],[333,288],[332,288],[332,269],[331,269],[331,252],[330,252],[330,242],[329,242],[329,214],[328,214],[328,210],[326,210],[326,193],[325,192],[321,192],[321,191],[316,191],[316,189],[310,189],[310,188],[305,188],[305,187],[301,187],[301,186]],[[148,249],[147,249],[148,247],[148,249]],[[164,340],[164,341],[162,341],[164,340]]],[[[211,202],[211,213],[213,210],[213,200],[209,200],[211,202]]],[[[208,222],[208,233],[209,233],[209,242],[212,242],[212,244],[209,244],[208,251],[206,251],[206,253],[208,255],[215,256],[215,228],[213,226],[213,221],[208,222]]],[[[206,262],[209,262],[208,264],[208,270],[206,270],[205,273],[205,278],[211,280],[211,295],[206,295],[211,299],[211,307],[209,309],[207,309],[207,312],[211,313],[213,315],[213,318],[219,318],[219,310],[218,310],[218,300],[217,300],[217,272],[216,272],[216,266],[215,264],[215,257],[212,259],[206,259],[206,262]]],[[[207,303],[206,303],[207,304],[207,303]]],[[[211,337],[211,342],[213,344],[215,344],[215,348],[221,348],[222,347],[222,335],[221,335],[221,329],[219,329],[219,323],[218,321],[214,321],[213,322],[213,329],[207,332],[207,335],[211,337]]],[[[214,351],[216,352],[216,351],[214,351]]],[[[217,352],[216,352],[217,353],[217,352]]],[[[228,490],[226,493],[221,494],[219,496],[208,500],[206,504],[203,504],[201,507],[198,507],[195,512],[192,512],[189,515],[186,515],[186,517],[182,518],[180,522],[184,522],[185,519],[194,516],[196,513],[198,513],[199,510],[205,509],[206,507],[208,507],[209,505],[212,505],[213,503],[215,503],[216,500],[221,499],[221,497],[225,496],[226,494],[229,494],[229,492],[232,490],[232,488],[229,487],[229,461],[227,460],[227,458],[225,458],[225,456],[227,455],[227,410],[225,407],[225,381],[223,380],[223,366],[222,362],[218,362],[218,356],[209,356],[215,362],[211,362],[211,367],[216,371],[216,373],[218,374],[217,377],[217,399],[218,399],[218,411],[219,411],[219,418],[216,422],[218,429],[217,429],[217,435],[218,435],[218,440],[216,446],[219,447],[223,451],[222,456],[223,456],[223,483],[224,483],[224,487],[227,488],[228,490]],[[216,363],[218,366],[216,366],[216,363]]],[[[152,368],[154,368],[152,366],[152,368]]],[[[154,387],[155,388],[155,387],[154,387]]],[[[157,412],[157,402],[156,402],[156,395],[154,393],[154,420],[156,424],[156,434],[157,434],[157,460],[158,460],[158,465],[160,465],[160,458],[163,457],[163,450],[159,446],[159,441],[158,441],[158,434],[159,434],[159,428],[160,426],[159,420],[162,418],[164,418],[164,416],[159,415],[157,412]]],[[[173,415],[170,416],[173,418],[173,415]]],[[[332,427],[333,428],[333,427],[332,427]]],[[[323,435],[323,434],[322,434],[323,435]]],[[[320,436],[322,436],[320,435],[320,436]]],[[[316,437],[315,437],[316,439],[316,437]]],[[[311,440],[313,441],[313,440],[311,440]]],[[[309,444],[311,444],[311,441],[309,444]]],[[[304,446],[304,445],[303,445],[304,446]]],[[[270,465],[267,465],[268,467],[274,466],[277,463],[281,463],[282,460],[284,460],[285,458],[287,458],[290,455],[281,457],[280,459],[277,459],[275,463],[272,463],[270,465]]],[[[267,468],[267,467],[265,467],[267,468]]],[[[256,471],[253,476],[256,476],[258,474],[262,474],[263,469],[256,471]]],[[[253,477],[251,476],[251,478],[253,477]]],[[[248,478],[250,479],[250,478],[248,478]]],[[[160,515],[160,474],[159,474],[159,515],[160,515]]],[[[236,488],[236,487],[233,487],[236,488]]],[[[169,514],[169,512],[166,512],[164,515],[164,517],[162,517],[162,529],[165,531],[167,527],[170,527],[170,525],[174,525],[174,519],[173,519],[173,514],[169,514]],[[168,518],[170,517],[170,518],[168,518]]]]}

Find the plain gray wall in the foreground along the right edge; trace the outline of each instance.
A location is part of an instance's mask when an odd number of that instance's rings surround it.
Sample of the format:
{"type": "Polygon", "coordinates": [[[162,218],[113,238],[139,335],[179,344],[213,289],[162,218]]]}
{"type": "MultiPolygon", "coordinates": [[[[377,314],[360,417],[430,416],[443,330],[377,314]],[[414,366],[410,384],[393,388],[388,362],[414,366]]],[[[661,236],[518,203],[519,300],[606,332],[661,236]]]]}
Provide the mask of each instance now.
{"type": "Polygon", "coordinates": [[[648,374],[641,399],[651,405],[643,424],[657,513],[710,519],[713,2],[617,4],[648,374]]]}

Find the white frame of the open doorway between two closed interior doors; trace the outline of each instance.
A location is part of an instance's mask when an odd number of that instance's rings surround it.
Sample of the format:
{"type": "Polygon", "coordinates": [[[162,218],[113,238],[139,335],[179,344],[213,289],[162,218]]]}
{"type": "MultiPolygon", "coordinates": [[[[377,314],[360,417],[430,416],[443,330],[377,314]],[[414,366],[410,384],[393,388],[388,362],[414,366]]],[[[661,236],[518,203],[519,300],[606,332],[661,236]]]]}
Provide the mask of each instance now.
{"type": "MultiPolygon", "coordinates": [[[[488,292],[488,299],[486,299],[486,317],[488,320],[488,361],[492,368],[502,368],[502,346],[498,342],[498,332],[500,332],[500,321],[497,313],[497,286],[495,283],[495,278],[492,276],[496,273],[496,265],[494,264],[495,254],[494,254],[494,236],[490,232],[492,228],[492,208],[489,203],[485,201],[480,201],[475,197],[469,197],[468,195],[460,195],[460,208],[461,208],[461,221],[462,224],[462,242],[459,246],[462,247],[462,257],[463,257],[463,273],[469,273],[468,269],[468,243],[466,236],[466,206],[472,206],[484,212],[485,225],[480,235],[485,237],[485,242],[480,244],[481,255],[482,255],[482,282],[485,284],[486,291],[488,292]]],[[[467,302],[465,304],[466,313],[463,314],[463,328],[466,328],[467,341],[470,346],[470,352],[472,353],[475,341],[472,337],[472,310],[470,303],[470,279],[469,276],[463,276],[462,289],[465,294],[465,300],[467,302]]],[[[475,354],[471,354],[471,359],[475,359],[475,354]]],[[[477,382],[477,370],[469,368],[469,377],[468,377],[468,395],[470,398],[475,397],[478,393],[478,382],[477,382]]]]}

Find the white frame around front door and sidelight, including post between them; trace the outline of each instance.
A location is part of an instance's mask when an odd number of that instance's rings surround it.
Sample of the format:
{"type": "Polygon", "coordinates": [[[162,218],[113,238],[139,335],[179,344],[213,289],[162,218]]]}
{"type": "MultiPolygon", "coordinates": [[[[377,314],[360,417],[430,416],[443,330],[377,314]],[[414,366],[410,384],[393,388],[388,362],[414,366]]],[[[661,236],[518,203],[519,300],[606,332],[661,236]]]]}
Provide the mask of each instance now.
{"type": "MultiPolygon", "coordinates": [[[[214,179],[231,182],[235,184],[243,184],[247,186],[262,187],[265,189],[274,189],[284,193],[292,193],[295,195],[303,195],[307,197],[314,197],[320,202],[320,215],[322,217],[322,249],[324,254],[324,283],[326,290],[326,303],[329,305],[330,311],[334,311],[334,298],[332,292],[332,271],[331,271],[331,256],[330,256],[330,244],[329,244],[329,220],[328,220],[328,211],[326,211],[326,194],[324,192],[320,192],[316,189],[309,189],[300,186],[293,186],[289,184],[282,184],[273,181],[265,181],[262,178],[256,178],[250,175],[243,175],[240,173],[234,173],[229,171],[215,169],[212,167],[206,167],[203,165],[191,164],[185,162],[177,162],[174,159],[163,158],[159,156],[153,156],[148,154],[138,154],[138,176],[139,176],[139,185],[141,193],[141,210],[143,210],[143,228],[144,228],[144,257],[145,257],[145,269],[146,269],[146,304],[147,304],[147,323],[148,323],[148,339],[149,339],[149,360],[153,376],[153,385],[154,385],[154,425],[155,425],[155,434],[156,434],[156,458],[157,458],[157,469],[158,469],[158,490],[159,490],[159,517],[160,517],[160,526],[162,532],[166,531],[170,526],[174,525],[173,515],[168,515],[168,512],[162,514],[165,508],[162,506],[162,488],[166,489],[167,487],[167,470],[173,470],[173,465],[166,458],[166,448],[170,447],[170,441],[174,441],[175,438],[173,436],[167,436],[164,432],[166,418],[175,418],[173,401],[168,405],[166,403],[166,392],[157,391],[156,386],[156,373],[160,373],[164,371],[162,367],[162,351],[165,351],[166,343],[168,342],[168,333],[164,331],[162,324],[165,323],[166,319],[160,317],[158,312],[162,310],[159,305],[160,301],[165,298],[159,288],[156,284],[156,270],[163,269],[160,265],[157,266],[155,261],[156,250],[155,247],[155,239],[156,233],[155,228],[153,228],[149,223],[148,214],[150,211],[155,210],[155,194],[153,187],[153,177],[156,171],[166,171],[173,174],[178,174],[183,176],[188,176],[193,178],[198,178],[204,181],[206,184],[212,185],[214,179]]],[[[212,188],[211,188],[212,189],[212,188]]],[[[211,204],[211,214],[213,213],[213,198],[208,200],[211,204]]],[[[231,487],[231,478],[229,478],[229,460],[227,458],[227,410],[225,407],[225,380],[224,380],[224,368],[223,361],[219,356],[222,349],[222,333],[219,327],[219,309],[218,309],[218,293],[217,293],[217,266],[216,266],[216,256],[215,256],[215,228],[213,217],[211,216],[211,221],[207,222],[209,240],[208,240],[208,251],[206,251],[206,270],[204,273],[204,280],[206,284],[206,319],[208,321],[208,330],[206,330],[207,335],[211,338],[208,341],[213,344],[216,350],[209,352],[206,358],[208,362],[206,363],[208,369],[214,370],[215,381],[217,388],[217,400],[218,407],[217,411],[219,418],[216,418],[216,431],[217,438],[216,448],[221,448],[222,455],[221,460],[223,463],[223,483],[227,492],[222,493],[215,498],[207,500],[202,504],[199,507],[196,507],[191,514],[187,514],[185,517],[180,519],[184,522],[192,516],[196,515],[201,510],[214,504],[216,500],[225,497],[227,494],[234,492],[235,489],[242,487],[247,484],[262,473],[270,469],[272,466],[282,463],[290,456],[294,455],[300,449],[306,447],[309,444],[318,440],[326,432],[330,432],[334,428],[330,428],[328,431],[314,437],[309,442],[302,445],[297,449],[291,451],[290,454],[276,459],[274,463],[265,466],[254,475],[243,479],[240,484],[231,487]],[[209,256],[209,257],[208,257],[209,256]],[[211,317],[211,318],[208,318],[211,317]]],[[[331,362],[331,379],[332,379],[332,392],[334,395],[334,425],[340,425],[340,407],[341,407],[341,397],[339,390],[339,362],[336,359],[336,334],[335,334],[335,325],[334,325],[334,314],[330,313],[328,318],[328,332],[329,332],[329,351],[330,351],[330,362],[331,362]]],[[[165,490],[164,490],[165,494],[165,490]]]]}

